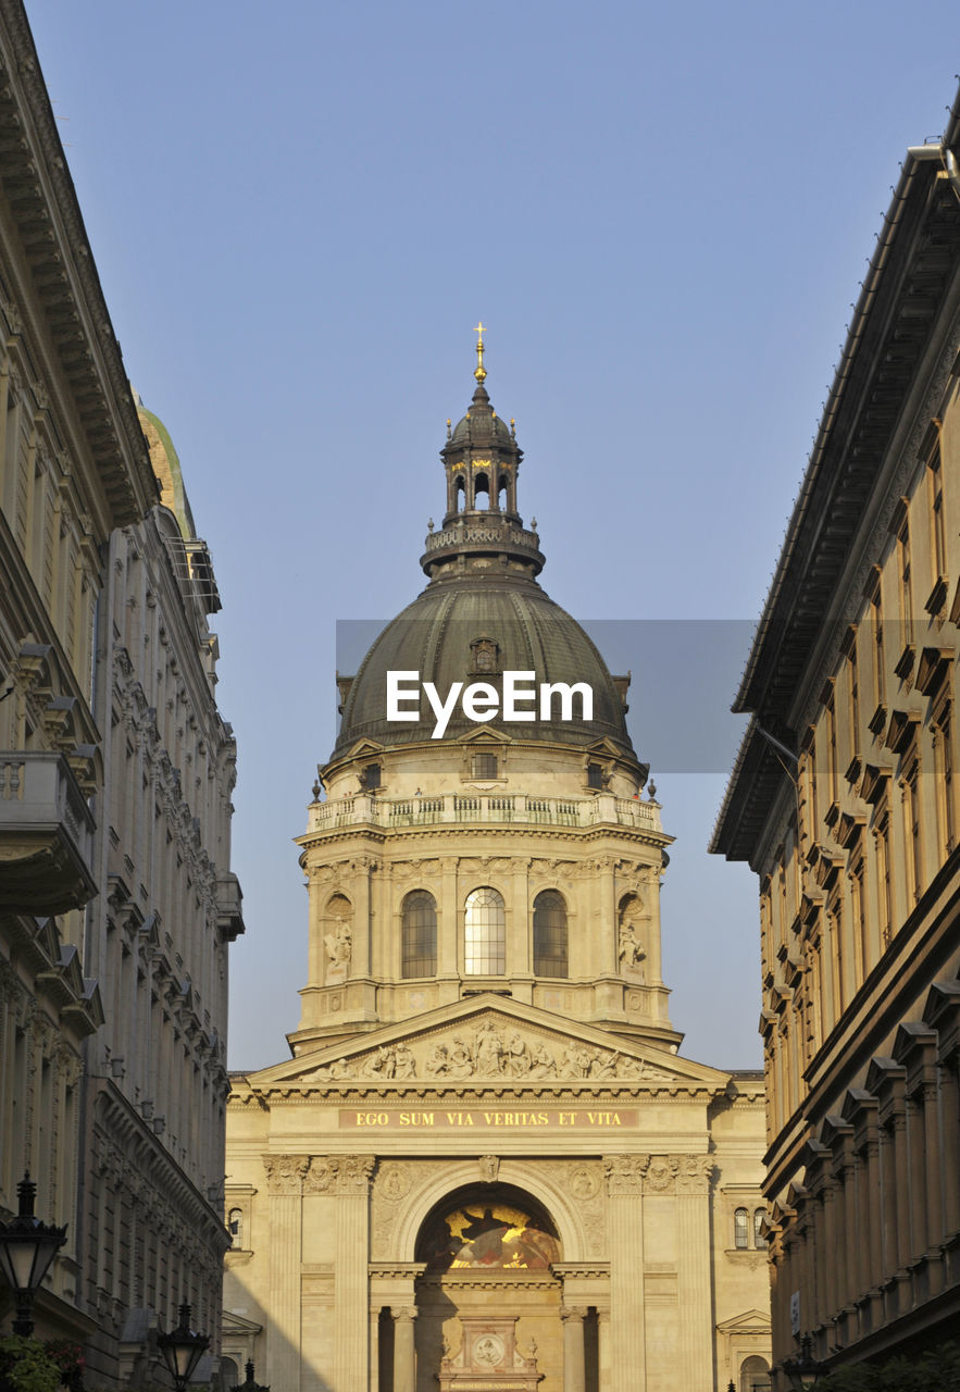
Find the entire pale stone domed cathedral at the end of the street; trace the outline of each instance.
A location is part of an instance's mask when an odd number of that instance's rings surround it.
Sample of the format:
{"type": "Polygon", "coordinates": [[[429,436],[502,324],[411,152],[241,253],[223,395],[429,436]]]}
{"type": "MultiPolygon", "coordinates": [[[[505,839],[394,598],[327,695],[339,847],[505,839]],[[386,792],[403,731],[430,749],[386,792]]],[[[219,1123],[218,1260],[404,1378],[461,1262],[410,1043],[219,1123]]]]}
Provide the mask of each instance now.
{"type": "Polygon", "coordinates": [[[627,679],[540,589],[476,377],[427,587],[338,678],[292,1058],[231,1077],[224,1354],[302,1392],[753,1392],[761,1079],[678,1052],[627,679]],[[391,672],[479,704],[391,718],[391,672]]]}

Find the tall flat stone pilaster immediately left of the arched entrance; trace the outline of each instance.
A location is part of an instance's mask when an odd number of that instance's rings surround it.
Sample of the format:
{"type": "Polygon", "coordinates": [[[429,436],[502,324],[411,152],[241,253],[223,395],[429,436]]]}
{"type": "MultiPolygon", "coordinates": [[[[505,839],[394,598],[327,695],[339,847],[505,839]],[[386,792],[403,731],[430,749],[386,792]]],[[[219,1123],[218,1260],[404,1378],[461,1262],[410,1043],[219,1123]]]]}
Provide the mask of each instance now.
{"type": "Polygon", "coordinates": [[[373,1155],[337,1161],[337,1260],[334,1286],[334,1389],[367,1386],[370,1293],[370,1178],[373,1155]]]}

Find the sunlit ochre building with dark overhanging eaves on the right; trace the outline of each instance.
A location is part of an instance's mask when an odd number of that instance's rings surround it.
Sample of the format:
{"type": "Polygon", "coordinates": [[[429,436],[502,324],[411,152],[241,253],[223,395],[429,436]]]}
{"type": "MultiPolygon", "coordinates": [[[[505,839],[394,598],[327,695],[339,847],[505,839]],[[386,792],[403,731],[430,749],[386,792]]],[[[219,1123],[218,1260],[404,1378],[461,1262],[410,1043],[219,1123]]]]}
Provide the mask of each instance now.
{"type": "Polygon", "coordinates": [[[774,1357],[960,1315],[960,104],[907,153],[735,710],[760,876],[774,1357]]]}

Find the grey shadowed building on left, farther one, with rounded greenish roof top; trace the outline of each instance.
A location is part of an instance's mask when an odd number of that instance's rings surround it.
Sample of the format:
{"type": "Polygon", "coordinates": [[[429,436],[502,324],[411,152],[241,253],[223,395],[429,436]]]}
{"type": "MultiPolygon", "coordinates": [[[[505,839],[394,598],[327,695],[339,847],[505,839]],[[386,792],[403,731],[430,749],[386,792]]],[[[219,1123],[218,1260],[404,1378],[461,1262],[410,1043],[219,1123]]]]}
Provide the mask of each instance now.
{"type": "MultiPolygon", "coordinates": [[[[220,599],[170,437],[139,406],[160,504],[113,533],[102,604],[99,883],[86,965],[104,1025],[86,1050],[81,1256],[102,1379],[146,1375],[152,1334],[189,1300],[220,1324],[227,952],[237,745],[216,703],[220,599]]],[[[214,1343],[216,1349],[216,1343],[214,1343]]],[[[200,1373],[209,1371],[203,1367],[200,1373]]]]}

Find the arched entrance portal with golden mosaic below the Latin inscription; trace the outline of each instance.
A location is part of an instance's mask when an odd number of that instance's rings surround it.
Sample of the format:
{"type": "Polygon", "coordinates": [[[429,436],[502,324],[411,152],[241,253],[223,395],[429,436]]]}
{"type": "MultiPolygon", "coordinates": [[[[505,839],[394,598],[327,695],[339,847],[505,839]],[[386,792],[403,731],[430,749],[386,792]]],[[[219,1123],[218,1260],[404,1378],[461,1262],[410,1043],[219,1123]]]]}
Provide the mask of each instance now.
{"type": "MultiPolygon", "coordinates": [[[[512,1185],[467,1185],[435,1204],[416,1243],[426,1268],[416,1283],[416,1392],[458,1392],[479,1378],[491,1392],[562,1392],[562,1257],[551,1215],[512,1185]]],[[[593,1324],[587,1317],[586,1392],[597,1386],[593,1324]]],[[[397,1392],[394,1367],[381,1359],[380,1392],[397,1392]]]]}

